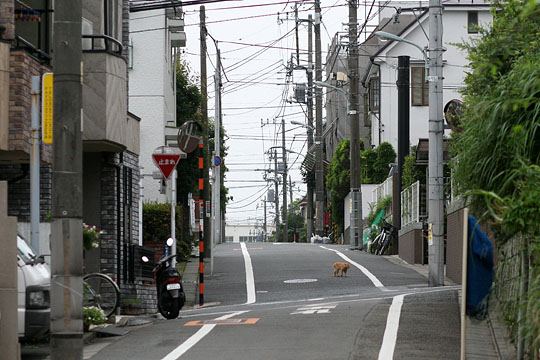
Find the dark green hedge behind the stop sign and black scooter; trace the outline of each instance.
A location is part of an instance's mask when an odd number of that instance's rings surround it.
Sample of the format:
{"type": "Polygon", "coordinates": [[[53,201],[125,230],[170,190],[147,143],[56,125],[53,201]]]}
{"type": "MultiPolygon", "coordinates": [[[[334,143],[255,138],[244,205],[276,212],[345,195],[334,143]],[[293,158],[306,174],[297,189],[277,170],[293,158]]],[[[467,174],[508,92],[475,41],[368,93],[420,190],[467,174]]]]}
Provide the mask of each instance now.
{"type": "MultiPolygon", "coordinates": [[[[179,259],[187,259],[191,255],[193,237],[186,234],[183,226],[184,209],[176,207],[176,251],[179,259]]],[[[171,205],[163,203],[143,204],[143,244],[148,242],[165,242],[171,236],[171,205]]]]}

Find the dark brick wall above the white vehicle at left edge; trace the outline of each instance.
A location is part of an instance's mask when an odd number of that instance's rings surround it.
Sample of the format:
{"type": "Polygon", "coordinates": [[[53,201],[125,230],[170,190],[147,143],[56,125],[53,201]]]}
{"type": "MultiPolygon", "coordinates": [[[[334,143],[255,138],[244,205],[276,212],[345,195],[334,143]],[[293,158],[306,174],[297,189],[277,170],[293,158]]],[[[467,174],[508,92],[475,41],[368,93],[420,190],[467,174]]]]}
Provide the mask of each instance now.
{"type": "MultiPolygon", "coordinates": [[[[40,168],[40,221],[47,222],[52,210],[51,165],[40,168]]],[[[8,214],[30,222],[30,169],[27,164],[0,165],[0,181],[8,181],[8,214]],[[17,178],[19,178],[17,181],[17,178]]]]}

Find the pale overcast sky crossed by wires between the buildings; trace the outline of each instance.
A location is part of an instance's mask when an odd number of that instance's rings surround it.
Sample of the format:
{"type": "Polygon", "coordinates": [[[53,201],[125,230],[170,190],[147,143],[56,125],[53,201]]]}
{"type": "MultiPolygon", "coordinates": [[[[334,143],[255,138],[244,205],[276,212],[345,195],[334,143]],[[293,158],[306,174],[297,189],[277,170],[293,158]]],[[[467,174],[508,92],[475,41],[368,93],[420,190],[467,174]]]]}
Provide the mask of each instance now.
{"type": "MultiPolygon", "coordinates": [[[[369,5],[360,2],[359,22],[363,22],[369,5]]],[[[345,30],[343,23],[348,18],[346,0],[321,0],[322,21],[322,62],[331,37],[337,31],[345,30]]],[[[263,172],[257,169],[269,168],[266,152],[272,146],[281,145],[282,116],[286,120],[286,147],[305,154],[306,130],[291,125],[291,120],[305,122],[302,108],[295,103],[287,103],[293,92],[293,85],[285,85],[285,66],[296,47],[294,32],[294,2],[283,0],[244,0],[209,4],[206,6],[206,21],[209,34],[218,41],[226,78],[223,79],[223,125],[227,132],[226,146],[229,168],[226,186],[233,200],[227,207],[228,223],[262,222],[262,199],[268,185],[263,172]],[[253,6],[261,5],[261,6],[253,6]],[[249,7],[246,7],[249,6],[249,7]],[[291,31],[292,30],[292,31],[291,31]],[[285,36],[284,36],[285,35],[285,36]],[[283,39],[275,42],[275,40],[283,39]],[[258,45],[258,46],[256,46],[258,45]],[[272,48],[266,48],[271,45],[272,48]],[[291,50],[289,50],[291,49],[291,50]],[[285,106],[283,106],[285,105],[285,106]],[[261,126],[261,121],[265,124],[261,126]],[[279,123],[274,125],[274,123],[279,123]]],[[[372,15],[378,7],[375,6],[372,15]]],[[[185,24],[187,46],[184,58],[194,74],[199,75],[199,9],[186,7],[185,24]]],[[[307,19],[314,14],[313,3],[304,2],[299,6],[299,18],[307,19]]],[[[307,25],[299,29],[300,48],[307,50],[307,25]]],[[[207,38],[209,58],[208,68],[208,114],[214,115],[213,73],[215,46],[207,38]]],[[[307,54],[301,53],[307,61],[307,54]]],[[[324,74],[324,72],[323,72],[324,74]]],[[[305,82],[302,71],[295,71],[291,82],[305,82]]],[[[304,107],[305,110],[305,107],[304,107]]],[[[279,149],[278,149],[279,150],[279,149]]],[[[288,164],[293,182],[293,198],[305,195],[306,186],[302,182],[299,168],[303,156],[288,154],[288,164]]],[[[270,176],[273,176],[270,174],[270,176]]],[[[281,189],[280,189],[281,191],[281,189]]],[[[280,204],[282,203],[280,196],[280,204]]],[[[268,206],[268,222],[273,221],[274,208],[268,206]]]]}

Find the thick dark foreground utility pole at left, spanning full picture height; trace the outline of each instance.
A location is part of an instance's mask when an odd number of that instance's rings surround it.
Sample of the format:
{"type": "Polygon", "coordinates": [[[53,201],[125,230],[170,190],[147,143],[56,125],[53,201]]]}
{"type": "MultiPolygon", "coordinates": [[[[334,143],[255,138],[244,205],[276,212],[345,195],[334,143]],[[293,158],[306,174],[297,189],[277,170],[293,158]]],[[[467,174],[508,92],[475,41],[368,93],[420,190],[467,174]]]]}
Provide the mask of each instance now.
{"type": "Polygon", "coordinates": [[[82,0],[54,11],[51,359],[83,358],[82,0]]]}

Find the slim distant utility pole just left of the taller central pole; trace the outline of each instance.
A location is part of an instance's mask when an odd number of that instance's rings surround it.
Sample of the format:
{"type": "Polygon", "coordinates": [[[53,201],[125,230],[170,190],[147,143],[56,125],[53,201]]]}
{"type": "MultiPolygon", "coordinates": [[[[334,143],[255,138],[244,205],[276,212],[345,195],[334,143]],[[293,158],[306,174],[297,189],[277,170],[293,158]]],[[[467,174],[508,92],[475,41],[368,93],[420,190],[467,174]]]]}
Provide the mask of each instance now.
{"type": "MultiPolygon", "coordinates": [[[[307,68],[307,133],[308,133],[308,151],[313,146],[313,17],[308,16],[308,68],[307,68]]],[[[313,183],[311,175],[308,175],[307,184],[307,235],[306,241],[309,242],[313,234],[313,183]]]]}

